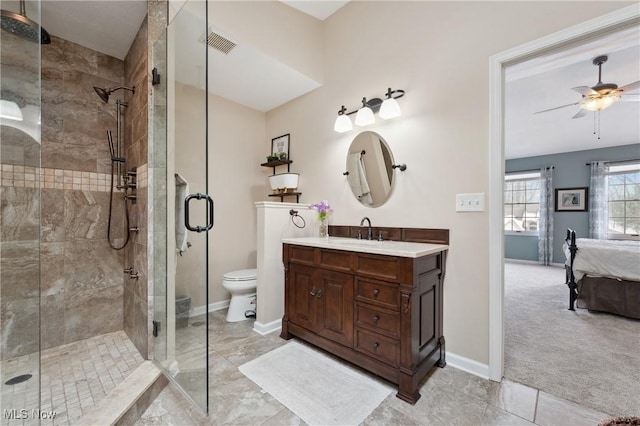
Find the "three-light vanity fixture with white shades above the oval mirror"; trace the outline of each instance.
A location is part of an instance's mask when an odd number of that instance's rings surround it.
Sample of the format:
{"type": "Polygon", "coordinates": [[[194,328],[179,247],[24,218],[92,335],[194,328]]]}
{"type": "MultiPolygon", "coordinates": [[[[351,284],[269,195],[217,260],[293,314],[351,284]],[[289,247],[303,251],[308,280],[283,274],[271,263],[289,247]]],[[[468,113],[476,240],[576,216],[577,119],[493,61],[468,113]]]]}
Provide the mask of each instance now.
{"type": "Polygon", "coordinates": [[[362,107],[357,110],[347,112],[344,105],[338,111],[338,117],[333,125],[333,130],[338,133],[348,132],[353,129],[351,119],[348,117],[351,114],[356,114],[355,124],[356,126],[368,126],[375,123],[374,113],[378,113],[380,118],[388,120],[390,118],[399,117],[401,115],[400,105],[396,99],[404,96],[404,90],[391,90],[389,88],[386,93],[384,101],[380,98],[362,98],[362,107]]]}

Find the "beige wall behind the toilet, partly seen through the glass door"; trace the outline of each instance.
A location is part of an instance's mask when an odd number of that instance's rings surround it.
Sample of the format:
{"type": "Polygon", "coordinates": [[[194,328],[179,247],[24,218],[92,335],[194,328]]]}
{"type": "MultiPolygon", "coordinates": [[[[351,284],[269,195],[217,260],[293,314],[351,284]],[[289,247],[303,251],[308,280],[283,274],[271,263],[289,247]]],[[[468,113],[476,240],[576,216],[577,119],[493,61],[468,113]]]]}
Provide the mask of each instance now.
{"type": "MultiPolygon", "coordinates": [[[[176,83],[175,170],[190,192],[205,192],[202,144],[203,92],[176,83]]],[[[215,223],[209,232],[209,303],[229,298],[222,288],[225,272],[256,267],[255,201],[267,199],[266,176],[260,167],[270,150],[264,113],[219,96],[209,96],[209,189],[215,202],[215,223]]],[[[192,224],[203,224],[202,201],[192,201],[192,224]],[[198,213],[201,213],[198,216],[198,213]]],[[[177,260],[176,295],[191,297],[191,307],[204,306],[204,234],[189,232],[192,247],[177,260]]]]}

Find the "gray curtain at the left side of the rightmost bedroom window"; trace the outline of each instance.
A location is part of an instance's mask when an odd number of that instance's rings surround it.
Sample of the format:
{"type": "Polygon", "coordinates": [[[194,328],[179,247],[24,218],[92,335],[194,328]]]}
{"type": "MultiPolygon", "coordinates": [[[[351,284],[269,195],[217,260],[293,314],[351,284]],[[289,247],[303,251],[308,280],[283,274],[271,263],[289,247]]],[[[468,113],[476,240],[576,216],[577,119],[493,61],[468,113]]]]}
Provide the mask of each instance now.
{"type": "Polygon", "coordinates": [[[591,162],[589,182],[589,238],[606,239],[609,219],[609,165],[604,161],[591,162]]]}

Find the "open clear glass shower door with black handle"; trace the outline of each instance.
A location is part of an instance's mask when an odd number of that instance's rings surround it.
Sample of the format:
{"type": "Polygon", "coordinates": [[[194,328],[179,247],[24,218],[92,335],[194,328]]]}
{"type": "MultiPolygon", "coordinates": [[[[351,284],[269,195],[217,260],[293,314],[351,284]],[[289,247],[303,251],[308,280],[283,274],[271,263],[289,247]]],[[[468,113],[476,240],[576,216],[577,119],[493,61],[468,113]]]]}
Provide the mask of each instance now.
{"type": "Polygon", "coordinates": [[[153,85],[157,157],[153,181],[157,188],[166,188],[154,210],[167,212],[164,226],[154,224],[154,229],[160,231],[154,234],[159,240],[164,238],[166,253],[165,273],[158,270],[154,274],[158,277],[154,283],[154,354],[170,380],[205,412],[207,231],[213,226],[213,201],[207,195],[206,31],[207,3],[188,1],[170,20],[166,34],[153,49],[153,67],[160,76],[153,85]],[[160,155],[164,156],[164,163],[159,160],[160,155]]]}

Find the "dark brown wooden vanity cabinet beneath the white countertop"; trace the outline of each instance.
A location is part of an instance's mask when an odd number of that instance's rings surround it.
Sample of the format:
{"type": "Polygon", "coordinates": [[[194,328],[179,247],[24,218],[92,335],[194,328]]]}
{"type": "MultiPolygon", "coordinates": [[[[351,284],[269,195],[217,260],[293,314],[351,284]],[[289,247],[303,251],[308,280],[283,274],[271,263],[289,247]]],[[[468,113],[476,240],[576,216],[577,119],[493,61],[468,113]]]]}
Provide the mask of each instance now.
{"type": "Polygon", "coordinates": [[[284,339],[295,336],[398,385],[414,404],[444,367],[446,251],[418,258],[283,244],[284,339]]]}

